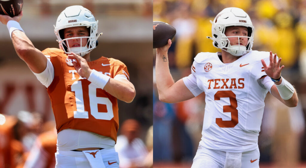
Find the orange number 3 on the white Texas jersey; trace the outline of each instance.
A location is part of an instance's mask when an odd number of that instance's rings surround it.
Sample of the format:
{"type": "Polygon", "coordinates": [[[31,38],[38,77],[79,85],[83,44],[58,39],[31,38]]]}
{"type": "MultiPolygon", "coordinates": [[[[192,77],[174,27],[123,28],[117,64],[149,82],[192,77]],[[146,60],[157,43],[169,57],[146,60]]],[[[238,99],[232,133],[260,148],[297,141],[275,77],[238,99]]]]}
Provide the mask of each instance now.
{"type": "Polygon", "coordinates": [[[238,124],[236,94],[231,90],[222,90],[215,94],[215,100],[220,100],[222,97],[230,98],[230,105],[223,106],[223,112],[230,112],[232,119],[230,121],[223,121],[222,118],[216,118],[216,124],[221,128],[233,128],[238,124]]]}

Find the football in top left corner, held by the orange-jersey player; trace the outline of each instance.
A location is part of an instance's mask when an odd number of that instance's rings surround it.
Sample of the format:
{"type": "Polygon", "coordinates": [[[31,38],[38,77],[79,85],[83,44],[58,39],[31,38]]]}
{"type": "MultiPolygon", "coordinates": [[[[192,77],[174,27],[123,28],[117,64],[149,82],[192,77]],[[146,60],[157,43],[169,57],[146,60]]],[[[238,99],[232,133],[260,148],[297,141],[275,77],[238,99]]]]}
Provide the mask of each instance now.
{"type": "Polygon", "coordinates": [[[23,0],[0,0],[0,14],[11,17],[19,15],[23,0]]]}

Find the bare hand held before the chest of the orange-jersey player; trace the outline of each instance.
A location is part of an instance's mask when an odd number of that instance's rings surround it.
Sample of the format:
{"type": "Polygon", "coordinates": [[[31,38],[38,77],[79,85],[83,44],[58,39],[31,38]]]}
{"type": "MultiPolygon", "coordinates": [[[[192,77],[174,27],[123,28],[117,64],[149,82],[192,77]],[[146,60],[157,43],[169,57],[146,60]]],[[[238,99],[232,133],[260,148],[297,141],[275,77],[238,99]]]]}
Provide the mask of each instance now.
{"type": "Polygon", "coordinates": [[[87,64],[87,61],[84,58],[82,58],[81,56],[76,55],[73,52],[71,52],[71,54],[68,55],[68,58],[72,59],[72,60],[76,59],[76,62],[72,61],[72,64],[73,64],[74,68],[76,68],[76,72],[80,76],[88,79],[90,74],[91,74],[92,69],[89,68],[89,66],[87,64]]]}

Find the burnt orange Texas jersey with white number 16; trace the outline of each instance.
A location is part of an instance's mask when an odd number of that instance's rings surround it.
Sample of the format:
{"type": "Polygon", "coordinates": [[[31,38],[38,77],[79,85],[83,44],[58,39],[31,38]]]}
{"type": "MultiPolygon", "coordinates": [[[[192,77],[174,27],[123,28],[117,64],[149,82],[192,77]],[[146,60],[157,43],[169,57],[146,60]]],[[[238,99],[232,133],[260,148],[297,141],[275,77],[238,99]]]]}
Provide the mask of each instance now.
{"type": "MultiPolygon", "coordinates": [[[[117,140],[119,127],[117,98],[82,78],[71,59],[61,49],[47,48],[43,54],[50,56],[54,79],[47,92],[59,133],[65,129],[84,130],[117,140]]],[[[91,69],[114,78],[129,73],[125,64],[113,58],[100,57],[88,62],[91,69]]]]}

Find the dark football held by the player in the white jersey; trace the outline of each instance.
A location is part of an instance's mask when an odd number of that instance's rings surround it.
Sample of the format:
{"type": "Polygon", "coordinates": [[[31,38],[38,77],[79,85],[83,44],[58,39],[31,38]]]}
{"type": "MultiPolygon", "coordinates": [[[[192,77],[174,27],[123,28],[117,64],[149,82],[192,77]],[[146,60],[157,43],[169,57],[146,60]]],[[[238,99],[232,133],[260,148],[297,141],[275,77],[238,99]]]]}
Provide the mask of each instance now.
{"type": "Polygon", "coordinates": [[[165,22],[153,22],[153,48],[165,46],[168,39],[172,39],[176,33],[176,29],[165,22]]]}

